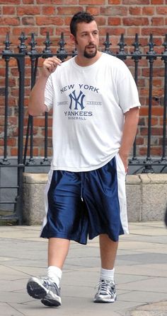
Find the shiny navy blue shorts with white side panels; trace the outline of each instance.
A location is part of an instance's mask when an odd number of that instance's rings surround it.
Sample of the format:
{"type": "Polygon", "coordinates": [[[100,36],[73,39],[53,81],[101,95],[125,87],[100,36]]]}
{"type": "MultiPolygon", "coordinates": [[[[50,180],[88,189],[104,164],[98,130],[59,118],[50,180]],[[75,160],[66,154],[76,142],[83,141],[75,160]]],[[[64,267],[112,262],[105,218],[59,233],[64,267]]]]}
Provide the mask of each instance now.
{"type": "Polygon", "coordinates": [[[125,168],[119,154],[92,171],[50,170],[45,210],[42,238],[86,244],[100,234],[117,241],[128,233],[125,168]]]}

